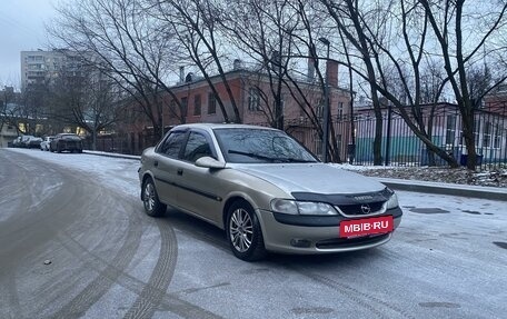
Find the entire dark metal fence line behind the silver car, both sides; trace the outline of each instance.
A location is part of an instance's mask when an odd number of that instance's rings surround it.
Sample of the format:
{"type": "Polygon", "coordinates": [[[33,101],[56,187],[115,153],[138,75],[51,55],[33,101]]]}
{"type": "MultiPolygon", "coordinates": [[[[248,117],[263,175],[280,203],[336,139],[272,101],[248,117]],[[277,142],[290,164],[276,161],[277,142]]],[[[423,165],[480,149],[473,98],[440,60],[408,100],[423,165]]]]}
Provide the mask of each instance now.
{"type": "MultiPolygon", "coordinates": [[[[467,150],[461,131],[461,119],[455,109],[444,109],[424,118],[431,127],[433,142],[456,158],[465,166],[467,150]]],[[[370,111],[358,111],[351,124],[350,118],[334,118],[331,138],[336,147],[335,157],[352,165],[374,165],[374,139],[376,119],[370,111]],[[355,143],[352,143],[352,129],[355,143]]],[[[262,123],[266,126],[266,123],[262,123]]],[[[321,157],[321,140],[318,130],[307,120],[286,122],[286,131],[305,144],[310,151],[321,157]]],[[[414,134],[405,120],[396,112],[384,111],[381,134],[382,165],[386,166],[428,166],[429,154],[425,143],[414,134]]],[[[478,111],[475,118],[475,142],[478,167],[507,167],[507,113],[478,111]]],[[[128,154],[140,154],[147,147],[155,146],[158,137],[149,133],[116,133],[99,136],[96,150],[128,154]]],[[[84,141],[86,149],[91,149],[91,139],[84,141]]],[[[435,156],[436,166],[447,162],[435,156]]]]}

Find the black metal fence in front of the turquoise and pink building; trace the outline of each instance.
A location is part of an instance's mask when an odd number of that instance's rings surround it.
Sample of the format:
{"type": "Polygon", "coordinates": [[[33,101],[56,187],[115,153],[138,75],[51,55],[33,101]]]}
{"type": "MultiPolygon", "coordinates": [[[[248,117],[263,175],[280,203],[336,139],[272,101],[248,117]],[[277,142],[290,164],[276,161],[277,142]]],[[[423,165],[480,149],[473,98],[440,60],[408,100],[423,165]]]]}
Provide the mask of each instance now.
{"type": "MultiPolygon", "coordinates": [[[[505,111],[505,109],[504,109],[505,111]]],[[[431,117],[422,117],[425,129],[431,127],[431,141],[451,154],[459,165],[466,166],[467,149],[461,130],[461,117],[456,109],[439,110],[431,117]]],[[[347,151],[341,149],[341,159],[351,160],[355,165],[374,165],[374,139],[376,120],[370,112],[359,113],[355,121],[355,144],[347,120],[337,119],[334,123],[337,137],[347,151]],[[344,138],[345,137],[345,138],[344,138]],[[354,153],[351,152],[354,151],[354,153]],[[352,158],[351,158],[352,157],[352,158]]],[[[382,118],[381,156],[386,166],[428,166],[429,152],[426,144],[411,131],[405,120],[395,111],[387,110],[382,118]],[[391,112],[389,114],[389,112],[391,112]]],[[[507,167],[507,114],[499,112],[478,111],[474,121],[474,137],[478,169],[507,167]]],[[[435,154],[436,166],[447,162],[435,154]]]]}

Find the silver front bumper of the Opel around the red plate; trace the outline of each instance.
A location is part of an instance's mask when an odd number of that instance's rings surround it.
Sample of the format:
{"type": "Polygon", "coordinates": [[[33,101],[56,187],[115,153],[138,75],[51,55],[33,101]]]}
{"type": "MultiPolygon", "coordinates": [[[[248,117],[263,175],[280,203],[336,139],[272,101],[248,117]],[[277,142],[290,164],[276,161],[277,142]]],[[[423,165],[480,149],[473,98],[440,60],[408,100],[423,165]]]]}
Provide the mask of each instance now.
{"type": "MultiPolygon", "coordinates": [[[[274,212],[259,210],[266,249],[287,253],[332,253],[354,251],[377,247],[386,243],[392,232],[356,238],[340,238],[339,222],[348,220],[336,217],[289,217],[280,220],[274,212]]],[[[392,216],[394,229],[401,222],[401,209],[395,208],[381,216],[392,216]]],[[[287,216],[285,216],[287,217],[287,216]]]]}

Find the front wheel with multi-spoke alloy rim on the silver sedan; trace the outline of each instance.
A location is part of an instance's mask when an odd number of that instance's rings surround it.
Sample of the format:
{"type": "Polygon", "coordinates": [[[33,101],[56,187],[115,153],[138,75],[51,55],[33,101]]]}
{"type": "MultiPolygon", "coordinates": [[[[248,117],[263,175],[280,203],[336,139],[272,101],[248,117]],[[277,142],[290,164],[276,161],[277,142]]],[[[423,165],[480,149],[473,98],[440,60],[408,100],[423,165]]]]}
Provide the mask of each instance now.
{"type": "Polygon", "coordinates": [[[251,206],[238,200],[227,213],[227,239],[232,253],[245,261],[256,261],[266,258],[262,230],[251,206]]]}

